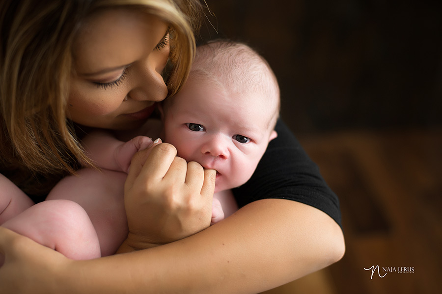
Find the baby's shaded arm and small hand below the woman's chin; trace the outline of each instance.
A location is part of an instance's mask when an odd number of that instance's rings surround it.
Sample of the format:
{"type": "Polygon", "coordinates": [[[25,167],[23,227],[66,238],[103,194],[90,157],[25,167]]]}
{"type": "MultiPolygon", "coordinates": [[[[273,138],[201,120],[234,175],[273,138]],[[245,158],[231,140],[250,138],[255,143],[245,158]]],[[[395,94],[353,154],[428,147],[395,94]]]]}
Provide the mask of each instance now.
{"type": "Polygon", "coordinates": [[[87,156],[99,167],[116,172],[127,172],[132,156],[151,144],[152,139],[145,136],[122,142],[104,131],[93,132],[83,139],[87,156]]]}

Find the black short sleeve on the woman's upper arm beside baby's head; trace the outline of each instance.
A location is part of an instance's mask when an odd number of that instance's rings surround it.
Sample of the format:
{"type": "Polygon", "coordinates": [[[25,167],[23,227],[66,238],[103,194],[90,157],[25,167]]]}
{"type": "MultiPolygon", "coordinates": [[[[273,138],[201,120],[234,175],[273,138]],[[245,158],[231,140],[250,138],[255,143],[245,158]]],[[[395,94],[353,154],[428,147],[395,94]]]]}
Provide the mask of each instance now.
{"type": "Polygon", "coordinates": [[[233,189],[239,207],[266,198],[290,199],[313,206],[341,226],[339,200],[288,127],[278,120],[278,136],[267,147],[247,183],[233,189]]]}

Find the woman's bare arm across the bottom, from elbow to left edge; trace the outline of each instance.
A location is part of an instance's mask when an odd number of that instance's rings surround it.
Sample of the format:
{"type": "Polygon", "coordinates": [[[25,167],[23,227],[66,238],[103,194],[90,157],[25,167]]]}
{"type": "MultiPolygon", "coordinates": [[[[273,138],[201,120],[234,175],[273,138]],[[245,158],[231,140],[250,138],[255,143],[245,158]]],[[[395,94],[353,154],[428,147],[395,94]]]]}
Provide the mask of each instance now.
{"type": "MultiPolygon", "coordinates": [[[[286,161],[310,165],[304,156],[286,161]]],[[[318,173],[304,175],[310,176],[318,173]]],[[[320,176],[303,182],[295,185],[298,193],[307,200],[322,196],[327,213],[275,196],[246,204],[186,239],[90,261],[70,261],[0,231],[0,252],[6,252],[0,284],[11,289],[5,293],[257,293],[274,288],[330,265],[345,250],[337,199],[320,176]]]]}

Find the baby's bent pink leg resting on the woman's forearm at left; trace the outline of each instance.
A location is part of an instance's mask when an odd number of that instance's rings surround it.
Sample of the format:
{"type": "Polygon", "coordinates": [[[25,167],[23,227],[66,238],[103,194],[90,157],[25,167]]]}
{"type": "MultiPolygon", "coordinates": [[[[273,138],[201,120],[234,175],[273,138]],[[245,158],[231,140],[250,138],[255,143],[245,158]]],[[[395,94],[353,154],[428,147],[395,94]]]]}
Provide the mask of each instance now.
{"type": "Polygon", "coordinates": [[[2,226],[71,259],[100,257],[95,229],[84,209],[73,201],[50,200],[35,204],[2,226]]]}

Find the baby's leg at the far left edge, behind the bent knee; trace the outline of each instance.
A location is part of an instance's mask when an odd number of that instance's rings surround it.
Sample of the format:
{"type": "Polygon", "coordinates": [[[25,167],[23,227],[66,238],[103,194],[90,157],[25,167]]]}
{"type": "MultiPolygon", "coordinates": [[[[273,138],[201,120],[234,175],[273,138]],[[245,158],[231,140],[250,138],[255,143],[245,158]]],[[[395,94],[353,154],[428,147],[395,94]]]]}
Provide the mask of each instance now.
{"type": "Polygon", "coordinates": [[[0,225],[33,204],[34,202],[22,190],[0,174],[0,225]]]}

